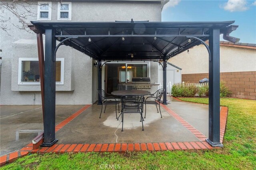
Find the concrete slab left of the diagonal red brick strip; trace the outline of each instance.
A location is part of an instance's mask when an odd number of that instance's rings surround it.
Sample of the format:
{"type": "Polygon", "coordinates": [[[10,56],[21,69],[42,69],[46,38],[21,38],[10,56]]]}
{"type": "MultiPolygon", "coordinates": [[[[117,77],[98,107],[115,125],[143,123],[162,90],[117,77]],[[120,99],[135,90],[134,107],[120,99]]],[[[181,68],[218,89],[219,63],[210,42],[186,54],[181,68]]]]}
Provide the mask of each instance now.
{"type": "MultiPolygon", "coordinates": [[[[56,106],[56,125],[78,111],[83,105],[56,106]]],[[[20,133],[19,130],[43,130],[41,105],[2,105],[0,115],[0,156],[14,152],[32,142],[34,133],[20,133]]]]}

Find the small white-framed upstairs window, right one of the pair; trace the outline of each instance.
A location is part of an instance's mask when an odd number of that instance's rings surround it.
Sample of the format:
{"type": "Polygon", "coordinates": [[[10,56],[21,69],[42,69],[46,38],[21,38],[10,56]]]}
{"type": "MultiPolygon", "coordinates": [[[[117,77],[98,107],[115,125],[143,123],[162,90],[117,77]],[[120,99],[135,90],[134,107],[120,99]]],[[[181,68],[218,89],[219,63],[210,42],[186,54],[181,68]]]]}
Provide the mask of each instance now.
{"type": "Polygon", "coordinates": [[[71,2],[58,2],[58,20],[71,21],[71,2]]]}

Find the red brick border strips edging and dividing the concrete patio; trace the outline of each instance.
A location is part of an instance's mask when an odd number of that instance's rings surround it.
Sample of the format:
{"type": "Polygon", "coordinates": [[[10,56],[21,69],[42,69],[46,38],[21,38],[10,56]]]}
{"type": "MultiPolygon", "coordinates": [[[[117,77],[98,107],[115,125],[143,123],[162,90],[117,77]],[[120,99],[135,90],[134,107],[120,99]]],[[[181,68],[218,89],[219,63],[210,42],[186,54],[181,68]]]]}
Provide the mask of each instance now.
{"type": "MultiPolygon", "coordinates": [[[[18,152],[12,152],[10,154],[0,157],[0,166],[6,163],[11,163],[18,157],[25,156],[29,153],[64,153],[64,152],[126,152],[126,151],[160,151],[160,150],[197,150],[197,149],[214,149],[219,147],[212,147],[205,140],[206,136],[192,127],[184,119],[178,116],[174,111],[168,108],[166,105],[161,105],[172,117],[179,121],[184,127],[186,127],[192,134],[194,134],[201,141],[196,142],[156,142],[156,143],[111,143],[111,144],[54,144],[51,147],[42,147],[33,149],[33,144],[30,143],[18,152]],[[203,136],[201,136],[203,135],[203,136]]],[[[56,126],[56,132],[64,127],[67,123],[72,121],[83,111],[88,109],[90,105],[84,106],[82,109],[62,121],[56,126]]],[[[220,111],[220,142],[223,142],[224,132],[226,129],[226,121],[228,116],[228,107],[221,107],[220,111]]]]}

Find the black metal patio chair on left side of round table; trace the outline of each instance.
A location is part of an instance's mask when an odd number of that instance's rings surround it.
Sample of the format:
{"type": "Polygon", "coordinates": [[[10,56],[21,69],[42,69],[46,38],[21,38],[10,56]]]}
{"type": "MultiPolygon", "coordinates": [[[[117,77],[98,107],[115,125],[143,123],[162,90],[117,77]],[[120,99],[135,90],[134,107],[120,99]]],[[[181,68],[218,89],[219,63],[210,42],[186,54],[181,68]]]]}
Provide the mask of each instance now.
{"type": "MultiPolygon", "coordinates": [[[[114,97],[106,97],[106,95],[110,95],[108,93],[106,93],[104,90],[102,89],[97,89],[97,92],[98,94],[100,95],[100,101],[101,101],[101,111],[100,111],[100,117],[101,117],[101,113],[102,113],[102,107],[103,105],[105,105],[105,109],[104,109],[104,113],[106,111],[106,107],[107,105],[118,105],[118,113],[120,113],[119,111],[119,103],[120,101],[116,101],[116,99],[114,97]],[[108,100],[108,99],[114,99],[113,101],[112,100],[108,100]]],[[[100,118],[99,117],[99,118],[100,118]]],[[[117,119],[117,113],[116,113],[116,119],[117,119]]]]}

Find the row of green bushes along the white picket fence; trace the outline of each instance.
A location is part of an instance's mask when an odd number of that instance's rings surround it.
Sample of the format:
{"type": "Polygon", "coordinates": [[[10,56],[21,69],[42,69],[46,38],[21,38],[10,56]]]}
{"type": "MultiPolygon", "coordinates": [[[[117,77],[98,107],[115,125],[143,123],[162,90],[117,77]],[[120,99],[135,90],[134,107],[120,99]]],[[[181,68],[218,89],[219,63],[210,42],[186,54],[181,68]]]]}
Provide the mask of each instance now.
{"type": "MultiPolygon", "coordinates": [[[[232,94],[225,81],[220,81],[220,97],[230,97],[232,94]]],[[[196,87],[195,84],[174,84],[172,86],[172,96],[174,97],[194,97],[209,96],[209,86],[196,87]]]]}

